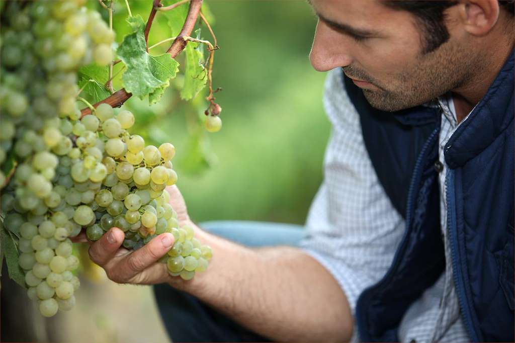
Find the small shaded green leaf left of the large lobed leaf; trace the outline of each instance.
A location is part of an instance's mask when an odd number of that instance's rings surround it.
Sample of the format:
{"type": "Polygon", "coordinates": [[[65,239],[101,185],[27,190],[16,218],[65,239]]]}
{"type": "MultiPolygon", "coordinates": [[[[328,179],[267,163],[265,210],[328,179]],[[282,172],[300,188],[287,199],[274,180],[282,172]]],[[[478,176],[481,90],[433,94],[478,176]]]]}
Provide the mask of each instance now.
{"type": "Polygon", "coordinates": [[[95,104],[111,95],[105,84],[109,80],[109,67],[100,67],[96,64],[85,65],[79,69],[79,88],[82,88],[81,96],[95,104]]]}

